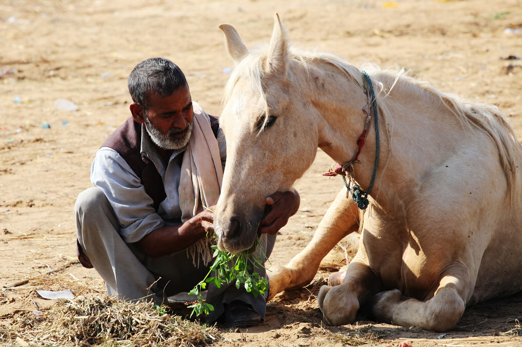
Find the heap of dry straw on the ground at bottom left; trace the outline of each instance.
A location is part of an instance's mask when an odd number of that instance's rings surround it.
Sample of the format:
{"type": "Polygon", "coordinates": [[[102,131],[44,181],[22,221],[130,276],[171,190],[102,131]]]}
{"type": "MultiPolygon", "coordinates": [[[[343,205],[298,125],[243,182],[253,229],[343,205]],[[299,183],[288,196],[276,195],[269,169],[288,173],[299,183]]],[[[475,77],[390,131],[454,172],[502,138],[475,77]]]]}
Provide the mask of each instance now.
{"type": "Polygon", "coordinates": [[[222,341],[216,328],[170,315],[165,309],[107,296],[61,299],[40,317],[27,313],[25,329],[0,330],[0,345],[193,347],[222,341]]]}

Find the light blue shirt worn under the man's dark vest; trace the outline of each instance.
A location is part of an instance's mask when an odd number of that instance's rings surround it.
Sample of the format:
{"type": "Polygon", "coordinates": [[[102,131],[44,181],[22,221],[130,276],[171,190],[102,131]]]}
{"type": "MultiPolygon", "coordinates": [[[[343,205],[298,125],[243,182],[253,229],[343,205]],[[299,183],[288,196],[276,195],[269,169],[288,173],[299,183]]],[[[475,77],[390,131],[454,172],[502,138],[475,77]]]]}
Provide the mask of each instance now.
{"type": "MultiPolygon", "coordinates": [[[[227,143],[221,128],[217,134],[221,165],[224,167],[227,143]]],[[[141,125],[140,152],[156,166],[167,194],[158,212],[154,209],[152,198],[145,191],[143,183],[120,154],[109,147],[101,147],[96,153],[91,165],[91,182],[105,193],[111,203],[120,222],[120,235],[125,242],[137,242],[153,230],[181,223],[178,188],[183,158],[181,154],[184,151],[185,149],[174,151],[165,167],[147,136],[145,124],[141,125]]]]}

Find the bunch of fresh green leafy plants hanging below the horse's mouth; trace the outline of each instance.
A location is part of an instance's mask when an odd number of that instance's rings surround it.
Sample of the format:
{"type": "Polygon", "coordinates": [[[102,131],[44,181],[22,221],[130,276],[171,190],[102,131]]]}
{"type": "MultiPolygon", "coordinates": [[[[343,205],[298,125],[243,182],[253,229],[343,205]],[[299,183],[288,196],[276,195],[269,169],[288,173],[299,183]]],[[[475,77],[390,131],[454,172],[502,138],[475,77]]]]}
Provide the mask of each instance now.
{"type": "Polygon", "coordinates": [[[258,237],[256,237],[256,242],[254,242],[254,246],[251,249],[237,254],[221,251],[218,249],[218,246],[211,247],[215,250],[212,257],[216,259],[205,278],[189,292],[189,294],[197,295],[197,303],[188,306],[192,308],[191,317],[194,314],[196,316],[201,314],[208,315],[210,311],[214,310],[212,305],[205,302],[201,293],[209,283],[213,283],[220,288],[223,284],[235,282],[235,286],[238,289],[243,284],[246,292],[252,293],[255,297],[259,294],[264,294],[268,290],[268,281],[253,271],[256,265],[265,268],[262,260],[258,259],[254,253],[256,247],[259,247],[260,253],[262,253],[264,259],[267,259],[263,248],[259,244],[258,237]],[[210,276],[210,274],[213,276],[210,276]]]}

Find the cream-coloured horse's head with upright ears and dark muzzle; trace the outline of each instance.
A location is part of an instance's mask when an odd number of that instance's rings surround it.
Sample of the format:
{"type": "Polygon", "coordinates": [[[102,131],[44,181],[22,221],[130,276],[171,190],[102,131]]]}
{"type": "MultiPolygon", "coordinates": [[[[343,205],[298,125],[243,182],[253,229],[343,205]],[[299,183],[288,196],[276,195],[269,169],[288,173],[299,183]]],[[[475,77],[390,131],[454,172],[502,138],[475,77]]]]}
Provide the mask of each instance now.
{"type": "Polygon", "coordinates": [[[303,76],[292,71],[279,17],[268,50],[249,52],[238,32],[221,25],[237,65],[226,87],[220,125],[227,139],[227,165],[217,205],[218,247],[250,248],[267,196],[291,189],[313,163],[317,124],[303,76]]]}

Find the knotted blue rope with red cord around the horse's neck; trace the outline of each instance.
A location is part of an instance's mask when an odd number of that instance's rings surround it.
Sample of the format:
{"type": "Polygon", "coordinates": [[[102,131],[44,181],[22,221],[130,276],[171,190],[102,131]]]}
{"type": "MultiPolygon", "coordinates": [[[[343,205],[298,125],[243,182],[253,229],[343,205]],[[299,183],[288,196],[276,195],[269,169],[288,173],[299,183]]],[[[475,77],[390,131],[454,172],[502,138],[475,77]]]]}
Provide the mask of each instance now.
{"type": "MultiPolygon", "coordinates": [[[[362,144],[359,144],[359,148],[357,151],[357,154],[354,156],[354,159],[350,160],[348,163],[342,166],[342,171],[345,173],[345,175],[342,175],[342,180],[345,182],[346,189],[351,193],[353,201],[357,204],[357,207],[361,210],[365,210],[366,207],[368,207],[368,204],[370,203],[368,201],[368,194],[372,191],[373,183],[375,183],[375,176],[377,175],[377,166],[379,163],[379,126],[377,121],[377,102],[375,101],[375,92],[373,90],[372,81],[370,80],[370,76],[365,71],[362,71],[363,75],[363,88],[364,92],[366,93],[366,96],[368,98],[368,106],[369,111],[371,112],[373,109],[373,118],[375,123],[375,161],[373,165],[373,174],[372,174],[372,180],[370,181],[370,186],[368,186],[368,190],[364,191],[361,187],[359,187],[357,184],[355,184],[353,181],[353,188],[350,188],[350,184],[346,181],[346,172],[350,172],[353,170],[349,170],[349,168],[353,168],[353,163],[360,163],[360,161],[357,160],[357,157],[359,156],[359,152],[361,150],[362,144]]],[[[362,138],[362,143],[364,143],[364,137],[366,136],[366,129],[363,132],[363,135],[361,135],[360,139],[362,138]]],[[[358,141],[359,142],[359,141],[358,141]]],[[[339,173],[339,172],[337,172],[339,173]]]]}

